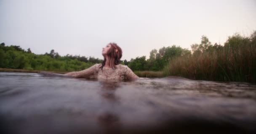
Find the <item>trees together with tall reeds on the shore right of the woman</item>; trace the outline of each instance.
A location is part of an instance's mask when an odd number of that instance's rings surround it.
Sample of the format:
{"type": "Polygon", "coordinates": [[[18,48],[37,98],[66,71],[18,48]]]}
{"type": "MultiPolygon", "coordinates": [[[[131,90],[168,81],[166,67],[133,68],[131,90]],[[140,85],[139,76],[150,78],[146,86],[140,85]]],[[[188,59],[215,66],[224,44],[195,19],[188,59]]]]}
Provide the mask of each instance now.
{"type": "Polygon", "coordinates": [[[251,36],[229,36],[224,45],[212,44],[202,36],[200,44],[189,51],[179,46],[153,49],[145,56],[131,59],[133,71],[163,71],[165,76],[194,80],[237,81],[256,83],[256,31],[251,36]]]}

